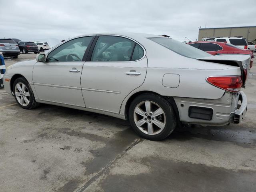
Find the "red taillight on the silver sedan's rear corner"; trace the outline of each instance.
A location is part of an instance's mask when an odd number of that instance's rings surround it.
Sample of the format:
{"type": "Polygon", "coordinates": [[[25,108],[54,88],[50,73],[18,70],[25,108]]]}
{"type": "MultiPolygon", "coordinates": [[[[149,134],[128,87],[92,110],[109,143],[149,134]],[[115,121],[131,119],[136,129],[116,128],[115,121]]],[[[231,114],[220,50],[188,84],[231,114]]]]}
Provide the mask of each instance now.
{"type": "Polygon", "coordinates": [[[206,81],[218,88],[230,92],[239,92],[243,84],[241,76],[208,77],[206,78],[206,81]]]}

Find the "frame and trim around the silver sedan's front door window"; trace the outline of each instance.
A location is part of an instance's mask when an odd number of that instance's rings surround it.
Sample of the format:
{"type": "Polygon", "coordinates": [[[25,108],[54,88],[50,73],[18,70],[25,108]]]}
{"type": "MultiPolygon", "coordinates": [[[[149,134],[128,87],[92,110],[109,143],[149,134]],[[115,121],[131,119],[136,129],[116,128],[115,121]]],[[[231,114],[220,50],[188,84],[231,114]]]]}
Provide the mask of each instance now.
{"type": "Polygon", "coordinates": [[[71,39],[69,39],[68,41],[64,41],[64,42],[62,42],[61,44],[59,44],[58,46],[56,46],[54,49],[51,49],[50,50],[50,52],[48,52],[47,54],[46,54],[46,63],[66,63],[66,62],[68,62],[68,63],[70,63],[70,62],[85,62],[86,61],[86,58],[87,58],[87,56],[88,56],[88,52],[89,52],[89,50],[90,50],[90,48],[91,48],[91,46],[92,46],[92,42],[94,42],[94,39],[95,39],[95,35],[86,35],[86,36],[79,36],[79,37],[74,37],[74,38],[71,38],[71,39]],[[62,46],[63,44],[65,44],[65,43],[67,43],[67,42],[69,42],[69,41],[71,41],[71,40],[74,40],[74,39],[78,39],[78,38],[83,38],[83,37],[92,37],[92,40],[90,41],[90,43],[88,44],[88,47],[87,47],[87,49],[86,49],[86,51],[84,52],[84,56],[83,56],[83,58],[82,58],[82,60],[81,61],[51,61],[51,62],[49,62],[49,61],[47,61],[47,58],[48,58],[48,55],[52,52],[52,51],[54,51],[56,48],[58,48],[59,46],[62,46]]]}

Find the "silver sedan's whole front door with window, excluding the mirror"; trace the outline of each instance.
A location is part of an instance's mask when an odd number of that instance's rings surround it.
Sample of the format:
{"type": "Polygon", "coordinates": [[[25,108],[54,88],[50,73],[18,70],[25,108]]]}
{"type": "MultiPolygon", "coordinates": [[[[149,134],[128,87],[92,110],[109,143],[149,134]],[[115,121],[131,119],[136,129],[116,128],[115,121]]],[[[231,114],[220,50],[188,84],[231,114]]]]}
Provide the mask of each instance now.
{"type": "Polygon", "coordinates": [[[46,62],[35,64],[33,83],[39,100],[85,107],[80,78],[92,38],[70,40],[52,50],[46,62]]]}

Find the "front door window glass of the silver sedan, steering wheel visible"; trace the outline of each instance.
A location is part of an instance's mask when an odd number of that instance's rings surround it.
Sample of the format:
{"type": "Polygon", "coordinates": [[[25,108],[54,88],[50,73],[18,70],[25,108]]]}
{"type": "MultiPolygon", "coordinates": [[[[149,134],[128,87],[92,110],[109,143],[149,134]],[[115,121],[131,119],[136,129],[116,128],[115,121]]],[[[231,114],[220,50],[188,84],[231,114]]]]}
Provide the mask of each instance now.
{"type": "Polygon", "coordinates": [[[70,40],[50,52],[46,62],[81,61],[91,40],[92,36],[70,40]]]}

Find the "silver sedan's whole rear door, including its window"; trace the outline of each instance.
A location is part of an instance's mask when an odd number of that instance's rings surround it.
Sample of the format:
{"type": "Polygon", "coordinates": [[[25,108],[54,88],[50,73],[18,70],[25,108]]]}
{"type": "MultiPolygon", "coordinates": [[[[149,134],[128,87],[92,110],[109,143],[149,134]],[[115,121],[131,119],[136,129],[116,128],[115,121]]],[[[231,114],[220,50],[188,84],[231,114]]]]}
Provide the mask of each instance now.
{"type": "Polygon", "coordinates": [[[81,76],[86,108],[118,114],[124,98],[144,82],[146,52],[121,36],[97,36],[90,52],[81,76]]]}

